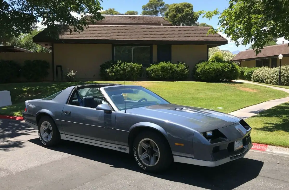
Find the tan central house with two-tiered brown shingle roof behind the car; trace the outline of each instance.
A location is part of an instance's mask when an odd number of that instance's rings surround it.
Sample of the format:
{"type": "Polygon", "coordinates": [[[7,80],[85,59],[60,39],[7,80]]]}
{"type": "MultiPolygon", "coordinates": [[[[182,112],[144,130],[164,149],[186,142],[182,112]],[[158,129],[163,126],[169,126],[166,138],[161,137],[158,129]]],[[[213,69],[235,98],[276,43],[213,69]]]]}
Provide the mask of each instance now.
{"type": "Polygon", "coordinates": [[[62,27],[59,40],[48,38],[45,30],[34,36],[33,42],[52,50],[53,80],[56,65],[64,72],[77,70],[81,80],[99,80],[99,66],[111,60],[144,67],[179,61],[192,70],[200,60],[208,60],[209,48],[228,43],[219,34],[207,35],[209,27],[172,26],[160,16],[103,16],[80,33],[62,27]]]}

